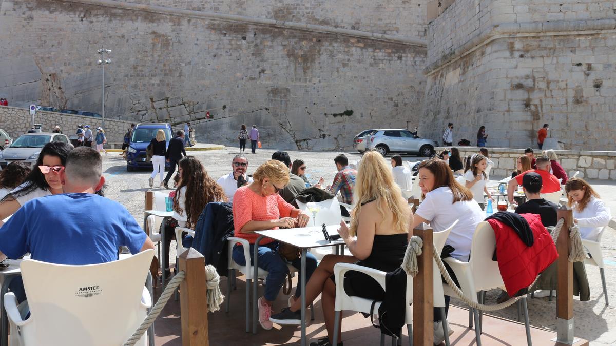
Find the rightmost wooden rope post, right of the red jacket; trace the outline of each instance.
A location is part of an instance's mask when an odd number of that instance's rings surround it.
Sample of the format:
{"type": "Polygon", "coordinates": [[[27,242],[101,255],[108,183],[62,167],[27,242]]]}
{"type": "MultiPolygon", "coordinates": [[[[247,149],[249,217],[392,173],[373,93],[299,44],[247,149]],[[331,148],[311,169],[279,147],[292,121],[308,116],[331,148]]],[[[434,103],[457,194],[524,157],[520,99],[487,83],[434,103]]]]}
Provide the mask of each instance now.
{"type": "Polygon", "coordinates": [[[565,219],[556,239],[558,251],[556,286],[556,341],[573,344],[573,264],[569,262],[569,226],[573,223],[573,211],[562,206],[558,209],[558,219],[565,219]]]}

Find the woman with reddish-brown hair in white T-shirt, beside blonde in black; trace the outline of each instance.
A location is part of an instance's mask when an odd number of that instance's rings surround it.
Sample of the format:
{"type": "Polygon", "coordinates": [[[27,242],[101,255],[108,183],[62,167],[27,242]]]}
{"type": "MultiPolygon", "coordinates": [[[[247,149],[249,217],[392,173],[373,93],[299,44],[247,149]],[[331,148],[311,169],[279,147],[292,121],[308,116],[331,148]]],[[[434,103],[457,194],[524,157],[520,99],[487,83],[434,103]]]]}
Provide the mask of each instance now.
{"type": "MultiPolygon", "coordinates": [[[[422,222],[429,223],[435,232],[454,227],[445,241],[453,247],[451,257],[468,262],[471,253],[472,235],[479,222],[485,218],[479,204],[473,199],[472,192],[453,178],[452,171],[440,159],[429,159],[419,164],[419,187],[425,196],[415,212],[411,229],[422,222]]],[[[445,264],[448,268],[448,265],[445,264]]],[[[451,269],[448,268],[451,272],[451,269]]],[[[449,309],[449,296],[445,296],[445,315],[449,309]]],[[[447,316],[441,316],[440,308],[434,308],[434,343],[445,340],[442,323],[447,323],[447,316]]],[[[448,328],[448,331],[452,331],[448,328]]]]}

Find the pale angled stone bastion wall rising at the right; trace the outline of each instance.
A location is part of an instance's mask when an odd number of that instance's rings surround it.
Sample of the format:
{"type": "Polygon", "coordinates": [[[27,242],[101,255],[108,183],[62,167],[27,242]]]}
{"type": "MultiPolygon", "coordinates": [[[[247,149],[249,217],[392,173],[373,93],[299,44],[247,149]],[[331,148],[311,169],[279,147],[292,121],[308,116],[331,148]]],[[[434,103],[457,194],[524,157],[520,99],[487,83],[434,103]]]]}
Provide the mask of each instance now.
{"type": "Polygon", "coordinates": [[[427,36],[422,135],[536,148],[548,123],[567,150],[614,150],[616,2],[456,0],[427,36]]]}

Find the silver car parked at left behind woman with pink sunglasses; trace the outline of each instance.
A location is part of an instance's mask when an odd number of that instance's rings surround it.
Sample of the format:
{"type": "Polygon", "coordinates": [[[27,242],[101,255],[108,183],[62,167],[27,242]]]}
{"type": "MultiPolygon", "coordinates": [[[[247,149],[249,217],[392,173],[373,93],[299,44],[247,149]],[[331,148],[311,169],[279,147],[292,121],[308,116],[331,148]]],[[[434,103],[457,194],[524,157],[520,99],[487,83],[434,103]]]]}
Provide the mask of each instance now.
{"type": "Polygon", "coordinates": [[[34,164],[41,153],[41,148],[49,142],[56,141],[68,143],[68,137],[54,132],[34,132],[20,135],[10,147],[0,153],[0,167],[4,169],[7,164],[13,161],[25,161],[34,164]]]}

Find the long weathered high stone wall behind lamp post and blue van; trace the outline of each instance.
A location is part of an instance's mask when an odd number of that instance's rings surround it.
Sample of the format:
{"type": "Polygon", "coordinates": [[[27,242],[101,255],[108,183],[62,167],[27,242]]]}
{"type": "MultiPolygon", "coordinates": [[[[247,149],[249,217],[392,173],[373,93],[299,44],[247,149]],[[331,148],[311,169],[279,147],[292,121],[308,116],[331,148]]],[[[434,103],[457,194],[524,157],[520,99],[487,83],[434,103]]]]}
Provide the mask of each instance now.
{"type": "MultiPolygon", "coordinates": [[[[113,63],[105,68],[107,118],[175,125],[190,120],[200,142],[235,143],[245,123],[259,127],[268,147],[349,148],[363,129],[375,124],[414,126],[421,115],[426,65],[422,44],[204,19],[180,10],[175,15],[168,7],[172,15],[128,10],[114,1],[84,2],[107,6],[0,2],[0,79],[7,81],[0,95],[11,104],[100,113],[102,71],[95,64],[95,51],[104,44],[113,50],[113,63]],[[206,121],[206,111],[213,119],[206,121]]],[[[393,13],[400,6],[408,6],[408,14],[421,7],[418,1],[389,2],[393,13]]],[[[192,7],[230,10],[223,3],[192,7]]],[[[326,3],[283,2],[280,6],[290,9],[288,13],[272,5],[256,15],[278,14],[286,20],[312,11],[322,20],[320,25],[327,25],[326,14],[334,5],[326,3]]],[[[193,2],[148,4],[181,8],[193,2]]],[[[240,1],[236,12],[249,15],[259,4],[240,1]]],[[[389,6],[381,9],[369,1],[346,4],[336,3],[336,13],[329,18],[342,18],[341,26],[349,28],[353,26],[344,18],[367,12],[378,18],[389,6]],[[345,11],[357,14],[345,16],[345,11]]],[[[421,30],[404,20],[391,18],[379,24],[380,29],[376,23],[362,23],[354,30],[419,36],[421,30]]]]}

